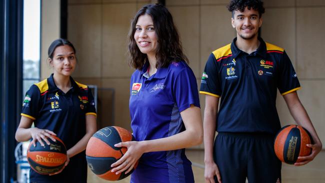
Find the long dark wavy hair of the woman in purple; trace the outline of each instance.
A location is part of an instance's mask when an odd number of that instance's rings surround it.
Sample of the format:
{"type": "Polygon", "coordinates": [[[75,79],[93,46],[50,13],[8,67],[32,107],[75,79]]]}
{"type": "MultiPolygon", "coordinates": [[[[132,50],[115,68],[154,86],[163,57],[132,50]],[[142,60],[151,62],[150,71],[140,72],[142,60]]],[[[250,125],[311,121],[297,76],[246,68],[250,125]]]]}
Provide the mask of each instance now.
{"type": "Polygon", "coordinates": [[[131,27],[128,32],[129,65],[133,68],[141,69],[148,59],[146,54],[142,53],[137,47],[136,40],[134,40],[137,19],[144,14],[151,16],[157,36],[156,68],[166,67],[172,61],[184,60],[188,63],[188,59],[182,51],[176,26],[168,9],[161,4],[147,4],[137,11],[131,21],[131,27]]]}

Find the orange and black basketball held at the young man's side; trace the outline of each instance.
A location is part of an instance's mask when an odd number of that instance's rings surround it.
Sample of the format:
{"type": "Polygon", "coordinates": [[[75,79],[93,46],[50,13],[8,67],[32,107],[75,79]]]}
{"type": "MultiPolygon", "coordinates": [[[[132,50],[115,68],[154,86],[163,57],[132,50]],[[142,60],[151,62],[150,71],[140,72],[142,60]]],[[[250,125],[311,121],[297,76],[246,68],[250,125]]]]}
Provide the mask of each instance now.
{"type": "Polygon", "coordinates": [[[294,164],[299,162],[298,156],[311,153],[311,148],[306,144],[312,143],[310,133],[299,125],[286,125],[276,134],[274,139],[274,151],[282,162],[294,164]]]}

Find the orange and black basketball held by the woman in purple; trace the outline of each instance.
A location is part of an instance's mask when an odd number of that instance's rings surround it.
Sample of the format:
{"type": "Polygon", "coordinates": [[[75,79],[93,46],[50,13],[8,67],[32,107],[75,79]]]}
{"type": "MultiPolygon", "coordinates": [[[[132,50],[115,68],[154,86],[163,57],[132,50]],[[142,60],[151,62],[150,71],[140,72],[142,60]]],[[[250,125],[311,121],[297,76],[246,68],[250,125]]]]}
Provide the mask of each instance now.
{"type": "Polygon", "coordinates": [[[110,165],[121,158],[127,150],[126,147],[115,147],[114,144],[132,140],[135,140],[132,134],[118,126],[104,127],[95,132],[86,147],[86,159],[91,171],[105,180],[120,180],[130,175],[133,170],[126,174],[124,173],[126,170],[115,174],[110,171],[112,169],[110,165]]]}

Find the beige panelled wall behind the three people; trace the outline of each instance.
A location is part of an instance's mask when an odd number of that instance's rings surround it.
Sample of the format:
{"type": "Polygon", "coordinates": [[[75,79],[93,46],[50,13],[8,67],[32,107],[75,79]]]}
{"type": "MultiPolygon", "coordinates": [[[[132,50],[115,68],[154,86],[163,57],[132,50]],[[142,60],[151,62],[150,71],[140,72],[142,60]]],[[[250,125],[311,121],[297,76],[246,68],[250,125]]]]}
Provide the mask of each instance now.
{"type": "MultiPolygon", "coordinates": [[[[149,2],[68,1],[68,39],[75,44],[79,62],[73,76],[85,84],[113,89],[112,122],[128,129],[129,77],[133,69],[126,63],[126,37],[130,19],[149,2]]],[[[227,3],[228,0],[166,0],[198,84],[209,53],[235,36],[227,3]]],[[[302,85],[298,95],[325,143],[325,62],[321,59],[325,48],[325,1],[264,0],[264,4],[261,36],[287,51],[302,85]]],[[[200,99],[203,109],[204,97],[200,99]]],[[[280,95],[277,106],[282,125],[294,123],[280,95]]]]}

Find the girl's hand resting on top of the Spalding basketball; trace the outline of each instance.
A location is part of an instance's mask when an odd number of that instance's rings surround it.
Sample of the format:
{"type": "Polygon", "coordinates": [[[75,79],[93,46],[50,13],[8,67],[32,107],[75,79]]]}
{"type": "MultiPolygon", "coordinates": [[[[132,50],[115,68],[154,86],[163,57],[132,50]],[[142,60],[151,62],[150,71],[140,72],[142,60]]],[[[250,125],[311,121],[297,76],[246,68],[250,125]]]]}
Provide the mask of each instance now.
{"type": "Polygon", "coordinates": [[[32,137],[31,143],[36,146],[36,140],[39,141],[41,146],[44,146],[44,142],[47,145],[49,145],[49,141],[47,138],[50,138],[51,140],[55,141],[55,138],[53,138],[51,135],[56,135],[53,131],[50,131],[48,129],[39,129],[37,127],[30,128],[30,135],[32,137]]]}

